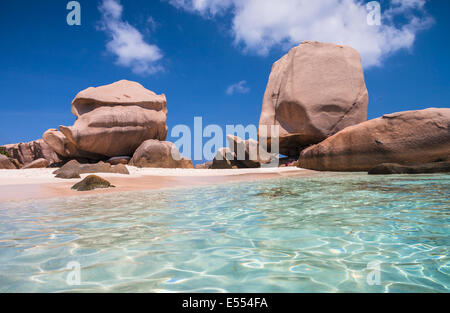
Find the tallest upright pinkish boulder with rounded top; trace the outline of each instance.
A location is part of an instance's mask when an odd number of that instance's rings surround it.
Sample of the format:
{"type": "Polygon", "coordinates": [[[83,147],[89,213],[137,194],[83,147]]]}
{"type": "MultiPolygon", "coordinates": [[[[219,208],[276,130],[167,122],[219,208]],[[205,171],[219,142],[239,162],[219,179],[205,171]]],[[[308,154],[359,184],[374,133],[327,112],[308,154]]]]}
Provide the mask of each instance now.
{"type": "Polygon", "coordinates": [[[278,125],[280,153],[298,157],[302,149],[366,121],[368,102],[356,50],[305,41],[272,67],[259,121],[260,142],[270,147],[270,126],[278,125]]]}

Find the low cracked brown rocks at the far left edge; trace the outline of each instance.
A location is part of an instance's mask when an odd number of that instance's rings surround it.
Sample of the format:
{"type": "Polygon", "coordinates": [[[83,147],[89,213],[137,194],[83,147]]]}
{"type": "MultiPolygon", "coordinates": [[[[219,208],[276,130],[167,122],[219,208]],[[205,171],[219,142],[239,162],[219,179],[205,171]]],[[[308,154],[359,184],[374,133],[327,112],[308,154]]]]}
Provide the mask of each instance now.
{"type": "Polygon", "coordinates": [[[38,159],[47,160],[49,165],[61,162],[60,157],[42,139],[26,143],[4,145],[0,147],[0,150],[24,165],[38,159]]]}

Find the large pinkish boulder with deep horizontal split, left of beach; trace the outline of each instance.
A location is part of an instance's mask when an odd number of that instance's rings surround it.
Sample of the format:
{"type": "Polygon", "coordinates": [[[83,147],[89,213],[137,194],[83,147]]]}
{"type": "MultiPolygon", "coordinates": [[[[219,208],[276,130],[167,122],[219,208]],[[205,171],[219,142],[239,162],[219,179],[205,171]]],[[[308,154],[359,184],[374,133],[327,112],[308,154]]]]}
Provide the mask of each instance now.
{"type": "MultiPolygon", "coordinates": [[[[145,140],[165,140],[167,135],[165,95],[136,82],[121,80],[83,90],[72,102],[72,113],[75,124],[59,129],[76,151],[84,153],[131,156],[145,140]]],[[[71,151],[70,145],[57,145],[58,151],[71,151]]]]}

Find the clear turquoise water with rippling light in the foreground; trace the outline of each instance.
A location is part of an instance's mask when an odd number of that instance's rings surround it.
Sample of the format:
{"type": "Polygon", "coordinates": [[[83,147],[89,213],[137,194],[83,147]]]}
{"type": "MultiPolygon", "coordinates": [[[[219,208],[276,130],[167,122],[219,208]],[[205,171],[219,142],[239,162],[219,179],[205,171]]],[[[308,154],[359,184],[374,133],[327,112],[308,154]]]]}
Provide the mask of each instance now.
{"type": "Polygon", "coordinates": [[[0,292],[448,292],[449,222],[450,175],[2,203],[0,292]]]}

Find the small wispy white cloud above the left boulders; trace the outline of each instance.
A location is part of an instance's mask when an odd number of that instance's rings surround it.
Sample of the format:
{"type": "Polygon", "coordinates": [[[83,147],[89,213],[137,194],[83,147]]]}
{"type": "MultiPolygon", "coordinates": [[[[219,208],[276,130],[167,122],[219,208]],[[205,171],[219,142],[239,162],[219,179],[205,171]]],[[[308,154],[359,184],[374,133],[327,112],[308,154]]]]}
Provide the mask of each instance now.
{"type": "Polygon", "coordinates": [[[162,69],[157,61],[162,53],[156,45],[145,42],[144,36],[128,22],[122,20],[120,0],[103,0],[100,29],[109,37],[106,48],[117,56],[116,63],[131,68],[137,74],[153,74],[162,69]]]}

